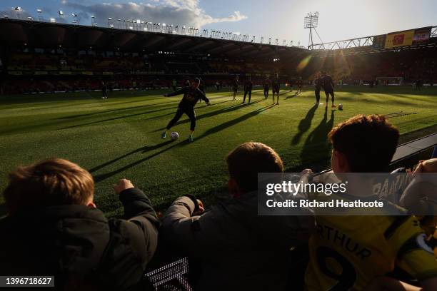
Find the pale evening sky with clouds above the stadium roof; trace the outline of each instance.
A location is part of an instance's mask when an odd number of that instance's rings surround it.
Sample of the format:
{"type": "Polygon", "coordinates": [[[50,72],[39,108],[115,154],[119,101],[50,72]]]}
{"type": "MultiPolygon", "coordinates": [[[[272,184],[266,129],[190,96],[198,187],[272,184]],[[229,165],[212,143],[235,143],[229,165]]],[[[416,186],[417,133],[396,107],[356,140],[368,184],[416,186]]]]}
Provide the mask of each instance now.
{"type": "Polygon", "coordinates": [[[80,24],[106,24],[107,18],[141,19],[199,29],[232,31],[279,39],[282,44],[308,45],[308,30],[303,18],[318,11],[318,35],[314,43],[341,41],[363,36],[386,34],[404,29],[437,25],[436,0],[0,0],[0,17],[14,17],[13,8],[21,6],[21,18],[34,16],[42,9],[44,19],[57,17],[80,24]]]}

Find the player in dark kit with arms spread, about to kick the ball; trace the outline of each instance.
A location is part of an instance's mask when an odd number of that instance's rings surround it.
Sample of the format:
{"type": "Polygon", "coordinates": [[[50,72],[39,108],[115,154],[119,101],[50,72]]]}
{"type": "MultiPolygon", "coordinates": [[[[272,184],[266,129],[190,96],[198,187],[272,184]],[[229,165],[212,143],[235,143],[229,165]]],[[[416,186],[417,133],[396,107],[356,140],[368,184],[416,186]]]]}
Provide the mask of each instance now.
{"type": "Polygon", "coordinates": [[[161,138],[167,137],[167,131],[169,131],[170,128],[172,128],[176,124],[176,122],[179,121],[179,118],[181,118],[181,116],[185,113],[190,118],[190,136],[188,138],[188,141],[193,141],[194,128],[196,128],[196,112],[194,112],[194,106],[196,106],[196,103],[197,101],[199,101],[199,99],[203,99],[207,105],[211,105],[211,103],[209,103],[209,99],[206,98],[205,94],[199,90],[199,83],[200,79],[195,78],[194,81],[191,82],[191,86],[164,95],[164,97],[171,97],[184,94],[184,97],[179,103],[178,110],[176,111],[174,118],[169,122],[169,125],[166,127],[166,131],[161,134],[161,138]]]}

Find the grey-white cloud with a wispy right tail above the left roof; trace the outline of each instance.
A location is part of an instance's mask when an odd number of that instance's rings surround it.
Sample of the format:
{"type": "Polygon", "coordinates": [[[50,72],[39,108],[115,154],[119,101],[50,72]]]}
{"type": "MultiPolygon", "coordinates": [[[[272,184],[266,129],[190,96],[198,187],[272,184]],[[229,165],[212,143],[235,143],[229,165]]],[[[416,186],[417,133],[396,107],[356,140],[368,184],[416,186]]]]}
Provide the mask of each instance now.
{"type": "Polygon", "coordinates": [[[114,19],[141,19],[174,25],[200,28],[206,24],[233,22],[247,19],[240,11],[225,17],[214,18],[199,7],[199,0],[149,0],[148,2],[78,4],[64,0],[64,5],[81,15],[81,18],[96,16],[96,22],[104,24],[108,17],[114,19]]]}

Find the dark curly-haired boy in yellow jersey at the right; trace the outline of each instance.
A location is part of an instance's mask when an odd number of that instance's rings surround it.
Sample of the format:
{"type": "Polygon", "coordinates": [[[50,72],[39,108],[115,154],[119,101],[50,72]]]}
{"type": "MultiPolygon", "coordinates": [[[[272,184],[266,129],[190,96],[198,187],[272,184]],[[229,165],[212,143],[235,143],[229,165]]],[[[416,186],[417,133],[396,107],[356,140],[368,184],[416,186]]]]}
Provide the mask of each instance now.
{"type": "MultiPolygon", "coordinates": [[[[384,116],[359,115],[333,128],[329,138],[337,176],[381,173],[393,158],[399,132],[384,116]]],[[[374,199],[373,183],[358,179],[358,187],[338,196],[374,199]]],[[[423,290],[437,290],[437,262],[417,219],[406,211],[402,216],[317,216],[316,222],[317,233],[309,243],[308,290],[363,290],[395,265],[419,280],[423,290]]]]}

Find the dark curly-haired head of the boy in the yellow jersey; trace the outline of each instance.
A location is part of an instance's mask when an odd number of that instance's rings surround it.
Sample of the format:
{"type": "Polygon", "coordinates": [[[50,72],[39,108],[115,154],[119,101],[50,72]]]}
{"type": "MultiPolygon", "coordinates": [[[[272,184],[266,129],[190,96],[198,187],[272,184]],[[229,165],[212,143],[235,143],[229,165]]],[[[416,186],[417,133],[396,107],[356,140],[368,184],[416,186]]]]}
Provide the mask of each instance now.
{"type": "Polygon", "coordinates": [[[399,131],[384,116],[358,115],[328,134],[334,173],[385,172],[398,146],[399,131]]]}

